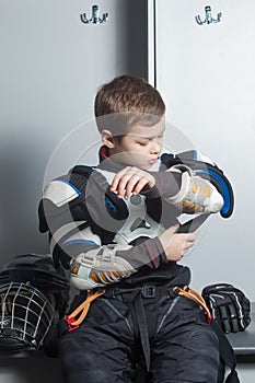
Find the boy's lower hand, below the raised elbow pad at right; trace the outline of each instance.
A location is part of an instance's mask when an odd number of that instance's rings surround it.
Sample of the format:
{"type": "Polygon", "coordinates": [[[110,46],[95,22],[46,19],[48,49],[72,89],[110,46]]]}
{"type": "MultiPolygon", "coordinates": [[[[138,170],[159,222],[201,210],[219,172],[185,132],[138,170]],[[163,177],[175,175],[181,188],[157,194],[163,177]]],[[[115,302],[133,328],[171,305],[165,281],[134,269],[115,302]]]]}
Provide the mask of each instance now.
{"type": "Polygon", "coordinates": [[[175,233],[178,227],[178,224],[170,227],[159,236],[159,240],[169,260],[181,260],[183,256],[189,251],[189,248],[195,245],[196,242],[195,233],[175,233]]]}

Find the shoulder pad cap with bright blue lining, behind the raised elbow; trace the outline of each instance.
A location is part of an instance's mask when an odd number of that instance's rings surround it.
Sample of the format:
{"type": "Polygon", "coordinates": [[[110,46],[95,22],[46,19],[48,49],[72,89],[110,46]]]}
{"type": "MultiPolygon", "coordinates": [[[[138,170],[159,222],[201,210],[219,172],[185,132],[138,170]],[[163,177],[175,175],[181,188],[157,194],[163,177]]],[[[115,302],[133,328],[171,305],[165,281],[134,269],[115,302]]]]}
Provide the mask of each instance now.
{"type": "Polygon", "coordinates": [[[221,216],[223,218],[229,218],[232,214],[234,207],[232,186],[223,172],[209,159],[200,155],[195,150],[190,150],[176,155],[163,154],[161,160],[165,169],[184,165],[190,169],[196,177],[198,176],[210,182],[223,198],[223,204],[220,209],[221,216]]]}

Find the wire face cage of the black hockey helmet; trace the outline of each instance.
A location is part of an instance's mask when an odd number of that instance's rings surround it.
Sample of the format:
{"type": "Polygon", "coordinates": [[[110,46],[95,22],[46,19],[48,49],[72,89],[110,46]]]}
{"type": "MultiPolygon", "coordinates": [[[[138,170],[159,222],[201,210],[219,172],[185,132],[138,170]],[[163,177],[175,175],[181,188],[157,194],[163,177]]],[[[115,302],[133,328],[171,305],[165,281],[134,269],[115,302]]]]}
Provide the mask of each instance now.
{"type": "Polygon", "coordinates": [[[23,282],[0,286],[0,349],[40,348],[55,309],[39,290],[23,282]]]}

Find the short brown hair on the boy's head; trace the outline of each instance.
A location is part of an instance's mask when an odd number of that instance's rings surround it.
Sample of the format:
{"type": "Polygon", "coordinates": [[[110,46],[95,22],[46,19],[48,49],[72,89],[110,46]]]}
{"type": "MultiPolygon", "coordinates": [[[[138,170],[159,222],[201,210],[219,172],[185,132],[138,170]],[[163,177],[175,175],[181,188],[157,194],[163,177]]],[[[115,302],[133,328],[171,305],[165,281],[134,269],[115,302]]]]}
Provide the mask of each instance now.
{"type": "Polygon", "coordinates": [[[114,136],[128,132],[130,126],[155,125],[165,113],[159,91],[146,80],[123,74],[102,85],[95,96],[94,114],[100,132],[114,136]]]}

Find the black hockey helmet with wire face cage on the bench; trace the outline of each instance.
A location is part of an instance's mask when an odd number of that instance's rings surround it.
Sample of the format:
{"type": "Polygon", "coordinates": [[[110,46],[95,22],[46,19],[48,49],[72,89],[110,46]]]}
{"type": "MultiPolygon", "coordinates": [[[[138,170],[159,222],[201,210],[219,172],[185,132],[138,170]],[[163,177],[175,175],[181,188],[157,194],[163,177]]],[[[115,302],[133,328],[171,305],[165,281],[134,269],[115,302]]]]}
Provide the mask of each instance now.
{"type": "Polygon", "coordinates": [[[49,255],[18,255],[0,271],[0,348],[40,348],[68,303],[69,283],[49,255]]]}

